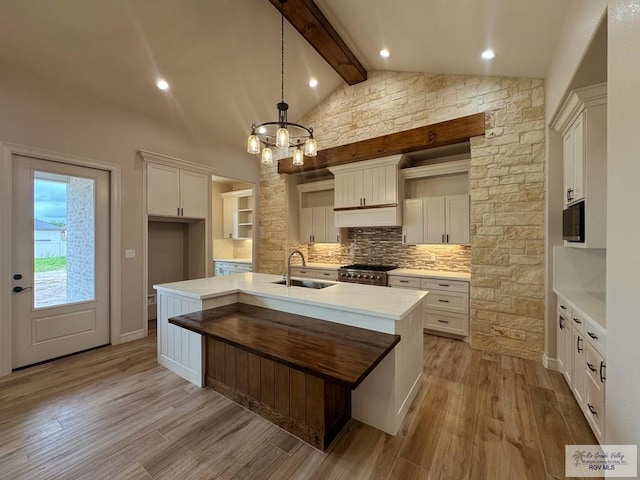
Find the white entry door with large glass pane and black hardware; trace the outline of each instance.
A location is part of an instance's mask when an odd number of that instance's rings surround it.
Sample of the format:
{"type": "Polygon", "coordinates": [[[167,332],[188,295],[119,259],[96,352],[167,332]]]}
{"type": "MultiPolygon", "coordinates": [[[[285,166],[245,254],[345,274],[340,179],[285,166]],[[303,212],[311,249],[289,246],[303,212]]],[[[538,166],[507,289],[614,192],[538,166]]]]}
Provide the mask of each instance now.
{"type": "Polygon", "coordinates": [[[109,343],[109,173],[14,156],[12,367],[109,343]]]}

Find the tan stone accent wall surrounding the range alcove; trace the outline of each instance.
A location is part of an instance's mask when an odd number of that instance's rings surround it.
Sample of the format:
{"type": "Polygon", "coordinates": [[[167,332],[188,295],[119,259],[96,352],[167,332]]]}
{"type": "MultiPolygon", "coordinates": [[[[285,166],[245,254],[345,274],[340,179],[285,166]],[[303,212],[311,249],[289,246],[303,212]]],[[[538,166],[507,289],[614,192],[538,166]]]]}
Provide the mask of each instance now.
{"type": "MultiPolygon", "coordinates": [[[[544,340],[544,87],[528,78],[370,72],[300,121],[320,149],[486,113],[471,141],[471,345],[540,360],[544,340]]],[[[260,271],[282,271],[286,178],[263,168],[260,271]]],[[[285,177],[285,176],[283,176],[285,177]]],[[[405,258],[401,256],[399,258],[405,258]]],[[[421,260],[422,261],[422,260],[421,260]]]]}

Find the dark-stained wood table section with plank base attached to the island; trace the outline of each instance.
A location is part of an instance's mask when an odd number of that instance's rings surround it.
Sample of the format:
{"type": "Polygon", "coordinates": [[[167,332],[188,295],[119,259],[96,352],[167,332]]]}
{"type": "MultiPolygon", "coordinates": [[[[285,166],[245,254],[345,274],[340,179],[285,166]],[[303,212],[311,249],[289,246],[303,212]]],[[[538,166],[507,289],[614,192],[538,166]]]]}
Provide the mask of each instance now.
{"type": "Polygon", "coordinates": [[[241,303],[169,322],[205,336],[207,386],[320,450],[351,418],[351,390],[400,341],[241,303]]]}

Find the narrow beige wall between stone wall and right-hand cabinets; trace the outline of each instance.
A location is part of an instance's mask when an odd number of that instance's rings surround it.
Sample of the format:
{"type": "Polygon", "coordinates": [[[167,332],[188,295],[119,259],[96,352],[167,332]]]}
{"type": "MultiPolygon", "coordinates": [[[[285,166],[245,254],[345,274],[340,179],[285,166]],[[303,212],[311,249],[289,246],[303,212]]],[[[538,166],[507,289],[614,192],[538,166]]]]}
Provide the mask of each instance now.
{"type": "Polygon", "coordinates": [[[562,138],[548,128],[570,87],[598,25],[606,14],[606,0],[573,0],[567,10],[562,32],[545,80],[547,125],[545,168],[545,346],[548,358],[556,358],[555,309],[553,293],[553,247],[562,244],[562,138]]]}

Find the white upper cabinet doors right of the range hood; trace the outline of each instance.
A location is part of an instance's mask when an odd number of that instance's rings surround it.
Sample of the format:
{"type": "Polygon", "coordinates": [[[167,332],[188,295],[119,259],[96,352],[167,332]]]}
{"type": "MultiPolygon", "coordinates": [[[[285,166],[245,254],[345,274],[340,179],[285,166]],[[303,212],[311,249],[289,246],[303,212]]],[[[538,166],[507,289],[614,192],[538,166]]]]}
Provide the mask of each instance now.
{"type": "Polygon", "coordinates": [[[468,244],[469,195],[449,195],[404,201],[403,242],[468,244]]]}

